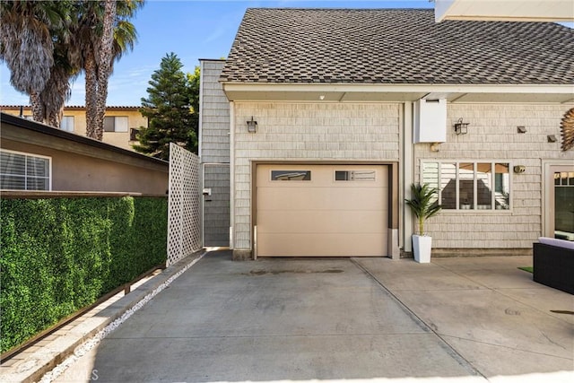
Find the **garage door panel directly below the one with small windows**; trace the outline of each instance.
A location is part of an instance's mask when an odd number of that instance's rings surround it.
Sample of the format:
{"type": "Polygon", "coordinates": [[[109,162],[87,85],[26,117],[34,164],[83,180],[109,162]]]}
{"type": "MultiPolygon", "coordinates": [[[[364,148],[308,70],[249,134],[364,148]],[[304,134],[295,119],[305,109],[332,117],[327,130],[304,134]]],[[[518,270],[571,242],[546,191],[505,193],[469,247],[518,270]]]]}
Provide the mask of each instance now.
{"type": "MultiPolygon", "coordinates": [[[[287,182],[286,182],[287,183],[287,182]]],[[[380,187],[261,187],[257,191],[259,211],[284,210],[383,210],[387,188],[380,187]]]]}

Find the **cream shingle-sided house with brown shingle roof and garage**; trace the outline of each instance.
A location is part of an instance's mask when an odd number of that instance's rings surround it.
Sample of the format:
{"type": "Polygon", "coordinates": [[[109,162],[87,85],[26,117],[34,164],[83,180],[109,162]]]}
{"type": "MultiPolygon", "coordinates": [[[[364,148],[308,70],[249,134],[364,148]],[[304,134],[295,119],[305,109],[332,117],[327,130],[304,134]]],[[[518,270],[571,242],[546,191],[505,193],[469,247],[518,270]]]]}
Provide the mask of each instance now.
{"type": "Polygon", "coordinates": [[[235,258],[400,257],[404,198],[427,182],[444,206],[426,225],[435,253],[574,239],[572,52],[574,31],[550,22],[248,9],[228,59],[202,60],[200,157],[219,187],[204,209],[221,212],[205,238],[235,258]]]}

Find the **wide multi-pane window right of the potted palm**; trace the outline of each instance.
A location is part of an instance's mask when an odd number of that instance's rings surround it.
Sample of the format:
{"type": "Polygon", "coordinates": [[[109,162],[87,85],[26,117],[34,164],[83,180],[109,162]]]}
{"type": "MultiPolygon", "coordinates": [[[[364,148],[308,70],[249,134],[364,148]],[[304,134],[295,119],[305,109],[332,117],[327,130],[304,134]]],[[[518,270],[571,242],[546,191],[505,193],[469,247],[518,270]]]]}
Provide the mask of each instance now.
{"type": "Polygon", "coordinates": [[[439,204],[445,210],[510,208],[508,162],[423,162],[422,182],[439,190],[439,204]]]}

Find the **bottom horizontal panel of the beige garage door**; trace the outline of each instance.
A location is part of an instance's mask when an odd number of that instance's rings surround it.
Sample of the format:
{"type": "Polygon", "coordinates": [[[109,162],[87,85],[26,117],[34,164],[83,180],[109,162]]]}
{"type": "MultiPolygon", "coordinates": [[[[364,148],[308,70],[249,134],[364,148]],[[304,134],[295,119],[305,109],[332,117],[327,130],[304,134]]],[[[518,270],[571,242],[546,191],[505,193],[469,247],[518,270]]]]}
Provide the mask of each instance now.
{"type": "Polygon", "coordinates": [[[270,234],[257,240],[258,257],[384,257],[378,234],[270,234]]]}

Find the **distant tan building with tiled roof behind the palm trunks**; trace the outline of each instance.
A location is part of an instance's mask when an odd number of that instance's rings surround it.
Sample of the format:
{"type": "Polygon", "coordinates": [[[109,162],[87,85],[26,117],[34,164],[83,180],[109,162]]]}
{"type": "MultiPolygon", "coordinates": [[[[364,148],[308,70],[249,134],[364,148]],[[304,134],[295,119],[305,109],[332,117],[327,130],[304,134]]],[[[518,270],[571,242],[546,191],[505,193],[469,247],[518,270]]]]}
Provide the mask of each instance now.
{"type": "MultiPolygon", "coordinates": [[[[103,142],[120,148],[133,150],[136,143],[135,134],[140,126],[147,126],[147,118],[139,112],[140,107],[106,107],[104,117],[103,142]]],[[[20,116],[21,107],[18,105],[1,106],[4,113],[20,116]]],[[[22,107],[22,117],[32,118],[30,106],[22,107]]],[[[60,129],[76,135],[86,135],[85,107],[65,107],[60,129]]]]}

